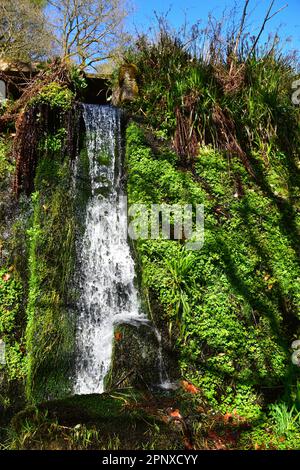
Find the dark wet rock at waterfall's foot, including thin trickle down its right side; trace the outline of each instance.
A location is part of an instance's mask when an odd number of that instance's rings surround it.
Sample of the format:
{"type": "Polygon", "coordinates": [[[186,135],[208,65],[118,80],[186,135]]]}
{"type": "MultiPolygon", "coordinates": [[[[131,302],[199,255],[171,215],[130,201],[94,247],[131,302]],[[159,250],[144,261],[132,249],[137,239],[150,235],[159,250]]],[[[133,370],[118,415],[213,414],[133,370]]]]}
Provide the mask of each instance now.
{"type": "Polygon", "coordinates": [[[106,390],[129,385],[168,390],[180,379],[175,342],[170,337],[163,308],[154,292],[146,293],[141,285],[139,287],[149,323],[115,326],[111,368],[105,379],[106,390]]]}

